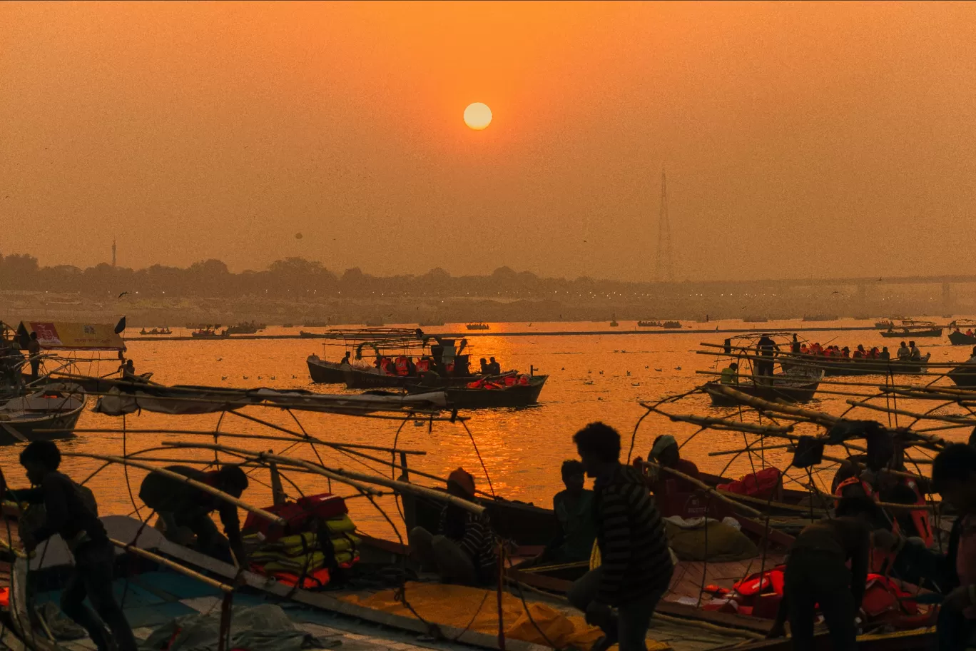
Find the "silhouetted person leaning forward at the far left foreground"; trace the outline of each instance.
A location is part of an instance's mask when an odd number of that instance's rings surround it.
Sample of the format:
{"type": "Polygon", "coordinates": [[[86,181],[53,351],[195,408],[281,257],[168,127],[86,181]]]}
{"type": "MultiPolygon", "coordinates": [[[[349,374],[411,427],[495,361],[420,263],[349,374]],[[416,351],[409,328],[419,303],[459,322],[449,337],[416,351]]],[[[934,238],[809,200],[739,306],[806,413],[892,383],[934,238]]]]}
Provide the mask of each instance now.
{"type": "MultiPolygon", "coordinates": [[[[51,441],[27,445],[20,453],[20,465],[35,488],[8,491],[0,472],[0,494],[17,503],[43,505],[45,513],[39,527],[21,528],[24,549],[30,553],[58,534],[74,556],[74,569],[61,592],[61,611],[88,631],[99,651],[136,651],[132,628],[112,592],[115,550],[99,519],[95,497],[58,471],[61,451],[51,441]],[[98,614],[85,604],[86,597],[98,614]]],[[[21,519],[20,526],[24,524],[21,519]]]]}

